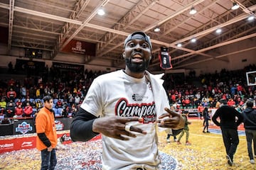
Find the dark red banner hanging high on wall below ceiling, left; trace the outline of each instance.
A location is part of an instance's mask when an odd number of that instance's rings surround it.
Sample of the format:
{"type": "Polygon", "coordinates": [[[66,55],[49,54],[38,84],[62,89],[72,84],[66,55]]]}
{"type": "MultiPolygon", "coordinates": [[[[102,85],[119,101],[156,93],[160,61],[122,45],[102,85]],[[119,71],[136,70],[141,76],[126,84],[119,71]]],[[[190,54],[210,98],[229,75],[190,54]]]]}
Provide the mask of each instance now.
{"type": "Polygon", "coordinates": [[[96,44],[80,40],[70,40],[68,45],[66,45],[61,51],[72,52],[80,55],[95,56],[96,44]]]}

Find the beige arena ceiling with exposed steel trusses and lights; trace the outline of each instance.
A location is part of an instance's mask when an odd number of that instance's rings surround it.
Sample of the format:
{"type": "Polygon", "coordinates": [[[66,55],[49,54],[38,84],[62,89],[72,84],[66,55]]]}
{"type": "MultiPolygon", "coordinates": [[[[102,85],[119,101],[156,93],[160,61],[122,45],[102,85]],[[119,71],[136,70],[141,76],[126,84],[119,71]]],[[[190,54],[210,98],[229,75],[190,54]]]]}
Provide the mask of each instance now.
{"type": "MultiPolygon", "coordinates": [[[[157,71],[161,46],[169,47],[176,68],[232,55],[218,48],[255,40],[255,11],[255,0],[0,0],[0,26],[9,29],[8,51],[34,48],[49,52],[54,60],[70,40],[81,40],[97,44],[96,56],[85,56],[84,64],[105,61],[106,67],[124,67],[124,38],[144,30],[153,44],[150,68],[157,71]],[[233,3],[240,8],[232,10],[233,3]],[[192,7],[196,14],[189,13],[192,7]],[[104,16],[97,14],[100,8],[104,16]],[[249,16],[254,20],[248,21],[249,16]],[[156,27],[159,32],[154,32],[156,27]],[[215,33],[217,28],[222,32],[215,33]]],[[[233,53],[252,49],[248,45],[233,53]]]]}

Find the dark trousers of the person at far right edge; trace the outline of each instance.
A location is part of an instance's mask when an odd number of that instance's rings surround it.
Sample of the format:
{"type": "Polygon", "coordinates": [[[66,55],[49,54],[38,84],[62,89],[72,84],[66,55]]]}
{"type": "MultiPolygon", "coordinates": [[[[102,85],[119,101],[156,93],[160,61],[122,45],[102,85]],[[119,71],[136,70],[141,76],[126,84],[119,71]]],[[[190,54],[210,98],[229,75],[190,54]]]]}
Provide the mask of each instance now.
{"type": "Polygon", "coordinates": [[[248,130],[245,129],[245,135],[247,140],[247,151],[250,159],[253,159],[252,154],[252,143],[253,143],[253,149],[254,154],[256,155],[256,130],[248,130]]]}

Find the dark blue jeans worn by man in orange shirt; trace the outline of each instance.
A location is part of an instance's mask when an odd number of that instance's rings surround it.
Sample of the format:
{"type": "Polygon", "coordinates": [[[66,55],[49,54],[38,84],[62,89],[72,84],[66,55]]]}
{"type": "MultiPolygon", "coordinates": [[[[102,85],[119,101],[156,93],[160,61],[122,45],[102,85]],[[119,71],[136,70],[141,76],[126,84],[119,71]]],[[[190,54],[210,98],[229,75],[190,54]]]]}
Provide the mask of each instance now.
{"type": "Polygon", "coordinates": [[[51,152],[48,152],[47,149],[41,150],[41,160],[41,170],[53,170],[57,164],[55,149],[51,152]]]}

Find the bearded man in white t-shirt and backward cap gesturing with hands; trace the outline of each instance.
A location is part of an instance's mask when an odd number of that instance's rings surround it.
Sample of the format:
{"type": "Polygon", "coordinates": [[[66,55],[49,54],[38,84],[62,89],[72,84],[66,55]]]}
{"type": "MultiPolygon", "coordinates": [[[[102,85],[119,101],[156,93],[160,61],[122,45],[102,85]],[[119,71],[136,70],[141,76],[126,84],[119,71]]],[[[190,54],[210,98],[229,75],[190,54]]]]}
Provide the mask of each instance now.
{"type": "Polygon", "coordinates": [[[159,169],[156,127],[180,129],[163,81],[146,71],[151,41],[144,32],[124,40],[124,70],[97,77],[70,128],[73,141],[102,134],[102,169],[159,169]]]}

